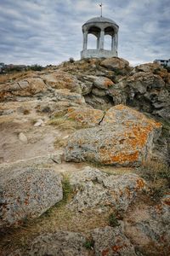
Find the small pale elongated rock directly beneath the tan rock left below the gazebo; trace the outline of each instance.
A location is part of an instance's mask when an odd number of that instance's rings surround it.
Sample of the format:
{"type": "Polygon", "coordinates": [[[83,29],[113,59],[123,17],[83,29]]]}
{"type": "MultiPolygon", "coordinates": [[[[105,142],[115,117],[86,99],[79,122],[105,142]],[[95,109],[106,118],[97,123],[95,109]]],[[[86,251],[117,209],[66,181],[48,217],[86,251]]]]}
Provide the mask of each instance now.
{"type": "Polygon", "coordinates": [[[85,103],[84,97],[76,92],[71,92],[71,90],[67,89],[60,89],[60,90],[55,90],[55,97],[58,101],[71,101],[75,102],[78,104],[83,104],[85,103]]]}

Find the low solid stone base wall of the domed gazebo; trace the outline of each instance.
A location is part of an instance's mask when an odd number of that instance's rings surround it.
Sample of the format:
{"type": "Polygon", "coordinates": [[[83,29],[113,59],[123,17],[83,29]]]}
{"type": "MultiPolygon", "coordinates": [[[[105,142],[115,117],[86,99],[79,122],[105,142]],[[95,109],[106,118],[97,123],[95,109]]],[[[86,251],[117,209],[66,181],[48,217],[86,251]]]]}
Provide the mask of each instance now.
{"type": "Polygon", "coordinates": [[[81,59],[86,58],[111,58],[117,57],[117,51],[109,49],[83,49],[81,51],[81,59]]]}

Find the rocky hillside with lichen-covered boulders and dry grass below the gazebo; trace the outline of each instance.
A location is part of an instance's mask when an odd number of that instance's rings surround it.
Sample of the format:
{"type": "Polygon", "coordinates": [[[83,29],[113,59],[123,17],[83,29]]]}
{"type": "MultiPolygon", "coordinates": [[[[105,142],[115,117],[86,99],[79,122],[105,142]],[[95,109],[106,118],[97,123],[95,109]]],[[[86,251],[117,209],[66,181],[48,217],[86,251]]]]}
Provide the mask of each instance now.
{"type": "Polygon", "coordinates": [[[169,94],[120,58],[2,75],[0,255],[168,255],[169,94]]]}

